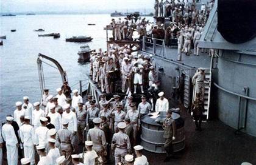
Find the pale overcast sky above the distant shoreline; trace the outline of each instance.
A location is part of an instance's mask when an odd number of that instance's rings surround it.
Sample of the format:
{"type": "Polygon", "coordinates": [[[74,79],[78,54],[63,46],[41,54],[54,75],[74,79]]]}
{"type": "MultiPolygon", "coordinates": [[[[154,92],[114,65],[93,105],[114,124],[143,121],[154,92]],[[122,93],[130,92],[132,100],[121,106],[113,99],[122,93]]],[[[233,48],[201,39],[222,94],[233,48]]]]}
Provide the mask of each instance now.
{"type": "Polygon", "coordinates": [[[154,11],[154,0],[0,0],[1,13],[154,11]]]}

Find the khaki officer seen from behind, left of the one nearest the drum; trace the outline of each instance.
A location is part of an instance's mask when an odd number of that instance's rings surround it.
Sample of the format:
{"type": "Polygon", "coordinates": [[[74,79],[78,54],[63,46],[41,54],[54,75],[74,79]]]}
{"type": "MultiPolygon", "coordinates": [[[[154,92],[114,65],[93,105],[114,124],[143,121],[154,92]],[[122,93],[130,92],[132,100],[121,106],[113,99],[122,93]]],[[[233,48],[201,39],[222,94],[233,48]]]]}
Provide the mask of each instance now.
{"type": "Polygon", "coordinates": [[[101,122],[101,118],[93,119],[94,127],[93,129],[89,129],[87,140],[93,142],[93,150],[95,150],[97,155],[101,156],[102,160],[105,161],[105,155],[107,155],[107,143],[103,130],[99,128],[101,122]]]}

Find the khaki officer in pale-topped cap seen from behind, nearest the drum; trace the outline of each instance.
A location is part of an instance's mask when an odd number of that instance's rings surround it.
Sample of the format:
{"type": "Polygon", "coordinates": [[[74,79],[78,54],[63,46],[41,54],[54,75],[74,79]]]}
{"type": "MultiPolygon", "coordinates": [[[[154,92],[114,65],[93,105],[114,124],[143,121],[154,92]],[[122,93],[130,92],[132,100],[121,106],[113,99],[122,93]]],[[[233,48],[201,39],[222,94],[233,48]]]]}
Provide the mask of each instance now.
{"type": "Polygon", "coordinates": [[[115,155],[115,165],[119,162],[124,163],[124,156],[131,152],[129,136],[124,133],[126,123],[118,123],[119,132],[115,133],[112,138],[111,148],[115,155]]]}

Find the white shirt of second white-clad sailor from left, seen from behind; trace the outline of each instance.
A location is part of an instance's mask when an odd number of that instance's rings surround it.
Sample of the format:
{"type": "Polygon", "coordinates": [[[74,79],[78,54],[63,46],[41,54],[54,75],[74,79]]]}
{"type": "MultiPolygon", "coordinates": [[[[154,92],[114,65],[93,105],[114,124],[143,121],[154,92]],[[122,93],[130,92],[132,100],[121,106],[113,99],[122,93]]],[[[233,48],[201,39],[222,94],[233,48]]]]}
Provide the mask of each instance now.
{"type": "Polygon", "coordinates": [[[35,130],[30,124],[20,127],[20,138],[24,146],[34,146],[35,130]]]}

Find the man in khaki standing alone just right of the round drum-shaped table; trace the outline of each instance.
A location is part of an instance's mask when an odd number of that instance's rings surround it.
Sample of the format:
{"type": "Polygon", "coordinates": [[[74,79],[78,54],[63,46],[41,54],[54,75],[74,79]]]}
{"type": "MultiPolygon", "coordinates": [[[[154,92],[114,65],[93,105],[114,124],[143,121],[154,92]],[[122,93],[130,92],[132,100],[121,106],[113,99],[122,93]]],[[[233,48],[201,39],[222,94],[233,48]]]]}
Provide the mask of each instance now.
{"type": "Polygon", "coordinates": [[[175,121],[171,118],[171,110],[169,109],[166,113],[166,118],[163,121],[163,138],[165,138],[165,150],[166,150],[166,158],[165,162],[169,161],[170,158],[173,156],[173,149],[172,149],[172,141],[175,140],[175,133],[176,133],[176,124],[175,121]]]}

